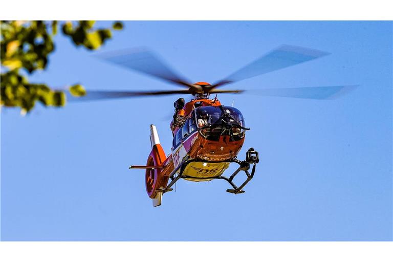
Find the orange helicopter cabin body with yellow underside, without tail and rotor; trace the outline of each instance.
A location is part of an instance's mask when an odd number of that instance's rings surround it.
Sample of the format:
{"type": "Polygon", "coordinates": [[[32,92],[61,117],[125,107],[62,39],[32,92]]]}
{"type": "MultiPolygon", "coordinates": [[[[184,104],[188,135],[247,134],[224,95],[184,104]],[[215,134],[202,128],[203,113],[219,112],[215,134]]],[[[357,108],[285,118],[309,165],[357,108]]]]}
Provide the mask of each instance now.
{"type": "Polygon", "coordinates": [[[233,107],[223,106],[217,99],[195,99],[186,103],[177,116],[183,121],[181,124],[171,122],[173,168],[187,159],[183,168],[185,179],[199,182],[221,176],[244,143],[245,132],[239,128],[244,125],[241,113],[233,107]],[[208,114],[208,121],[202,127],[197,125],[200,112],[208,114]],[[229,116],[229,123],[223,123],[225,114],[229,116]]]}

